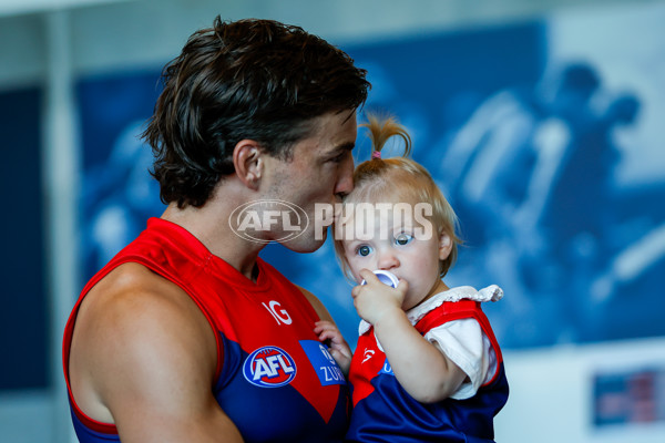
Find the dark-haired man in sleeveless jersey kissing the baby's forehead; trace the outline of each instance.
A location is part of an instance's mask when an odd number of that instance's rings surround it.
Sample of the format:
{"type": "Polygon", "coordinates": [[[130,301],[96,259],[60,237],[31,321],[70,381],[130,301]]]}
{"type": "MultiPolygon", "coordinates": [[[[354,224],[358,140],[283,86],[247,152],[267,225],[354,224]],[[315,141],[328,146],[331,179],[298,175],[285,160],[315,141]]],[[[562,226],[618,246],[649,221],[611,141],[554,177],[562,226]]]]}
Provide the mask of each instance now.
{"type": "Polygon", "coordinates": [[[65,329],[81,442],[344,437],[349,393],[314,332],[330,315],[258,253],[323,245],[327,224],[294,236],[272,217],[287,204],[313,219],[352,188],[365,75],[269,20],[217,18],[167,65],[144,137],[168,206],[91,279],[65,329]],[[239,235],[247,205],[264,225],[239,235]]]}

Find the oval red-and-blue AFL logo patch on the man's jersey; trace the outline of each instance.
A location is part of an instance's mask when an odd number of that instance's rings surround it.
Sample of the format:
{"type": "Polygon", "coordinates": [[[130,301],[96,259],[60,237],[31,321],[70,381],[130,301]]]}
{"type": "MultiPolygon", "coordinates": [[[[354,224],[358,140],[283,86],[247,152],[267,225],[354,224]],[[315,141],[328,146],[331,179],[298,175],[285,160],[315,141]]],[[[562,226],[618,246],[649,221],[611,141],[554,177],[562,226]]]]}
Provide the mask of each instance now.
{"type": "Polygon", "coordinates": [[[243,375],[256,387],[279,388],[296,377],[296,362],[277,347],[263,347],[247,357],[243,375]]]}

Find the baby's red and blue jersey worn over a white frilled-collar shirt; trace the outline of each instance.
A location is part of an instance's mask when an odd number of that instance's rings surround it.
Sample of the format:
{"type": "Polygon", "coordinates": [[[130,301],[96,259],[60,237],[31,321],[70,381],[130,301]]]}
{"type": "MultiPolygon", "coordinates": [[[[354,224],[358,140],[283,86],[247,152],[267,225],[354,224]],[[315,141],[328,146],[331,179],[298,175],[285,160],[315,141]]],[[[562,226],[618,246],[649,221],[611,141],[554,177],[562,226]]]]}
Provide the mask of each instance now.
{"type": "Polygon", "coordinates": [[[475,395],[424,404],[397,381],[374,328],[360,336],[349,372],[354,412],[349,442],[493,442],[493,418],[508,400],[508,380],[501,349],[490,322],[473,300],[446,301],[428,312],[416,329],[427,331],[446,322],[473,318],[489,338],[497,356],[497,371],[475,395]]]}

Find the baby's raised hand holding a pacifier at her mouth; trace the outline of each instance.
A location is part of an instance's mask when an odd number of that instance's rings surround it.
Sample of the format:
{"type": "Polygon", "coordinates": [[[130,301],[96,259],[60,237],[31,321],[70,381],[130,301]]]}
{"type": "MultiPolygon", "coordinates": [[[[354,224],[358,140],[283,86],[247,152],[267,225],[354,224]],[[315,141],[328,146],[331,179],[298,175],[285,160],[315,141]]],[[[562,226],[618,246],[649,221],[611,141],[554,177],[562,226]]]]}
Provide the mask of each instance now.
{"type": "Polygon", "coordinates": [[[406,280],[400,280],[397,288],[391,288],[379,281],[377,276],[369,269],[361,269],[360,276],[367,284],[358,285],[351,290],[358,316],[368,323],[375,324],[383,315],[390,311],[402,311],[409,286],[406,280]]]}

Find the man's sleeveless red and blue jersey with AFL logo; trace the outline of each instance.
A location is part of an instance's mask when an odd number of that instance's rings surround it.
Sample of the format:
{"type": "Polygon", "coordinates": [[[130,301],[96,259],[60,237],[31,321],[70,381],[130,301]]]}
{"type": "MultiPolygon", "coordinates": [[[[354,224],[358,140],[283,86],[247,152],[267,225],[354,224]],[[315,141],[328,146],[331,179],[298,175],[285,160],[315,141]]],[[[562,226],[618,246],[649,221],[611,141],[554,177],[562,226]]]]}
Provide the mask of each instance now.
{"type": "MultiPolygon", "coordinates": [[[[63,342],[69,350],[78,308],[111,270],[139,262],[178,285],[216,331],[218,365],[211,387],[245,442],[335,442],[348,426],[347,382],[314,333],[318,316],[300,290],[257,260],[256,284],[212,255],[182,227],[152,218],[147,229],[95,275],[74,307],[63,342]]],[[[81,411],[69,390],[79,441],[120,441],[113,424],[81,411]]]]}

